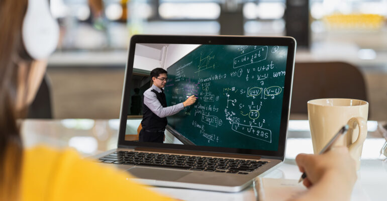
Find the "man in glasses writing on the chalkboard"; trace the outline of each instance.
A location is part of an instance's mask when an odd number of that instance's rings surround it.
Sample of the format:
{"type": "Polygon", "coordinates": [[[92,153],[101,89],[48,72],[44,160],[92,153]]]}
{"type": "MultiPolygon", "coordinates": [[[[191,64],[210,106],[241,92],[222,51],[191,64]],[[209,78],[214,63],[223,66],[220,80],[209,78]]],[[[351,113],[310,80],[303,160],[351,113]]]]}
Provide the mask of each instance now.
{"type": "Polygon", "coordinates": [[[189,96],[183,103],[167,107],[164,86],[167,82],[167,71],[155,68],[150,72],[153,84],[144,92],[142,129],[139,134],[140,142],[164,141],[164,131],[168,116],[174,115],[196,102],[195,95],[189,96]]]}

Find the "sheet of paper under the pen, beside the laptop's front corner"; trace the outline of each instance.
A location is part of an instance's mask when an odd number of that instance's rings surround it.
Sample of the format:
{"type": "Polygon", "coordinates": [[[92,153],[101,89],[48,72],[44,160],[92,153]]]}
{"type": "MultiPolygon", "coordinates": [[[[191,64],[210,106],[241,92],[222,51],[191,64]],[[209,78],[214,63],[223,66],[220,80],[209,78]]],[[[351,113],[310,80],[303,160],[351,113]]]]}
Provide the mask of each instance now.
{"type": "Polygon", "coordinates": [[[257,178],[258,200],[287,200],[303,193],[307,188],[297,179],[257,178]]]}

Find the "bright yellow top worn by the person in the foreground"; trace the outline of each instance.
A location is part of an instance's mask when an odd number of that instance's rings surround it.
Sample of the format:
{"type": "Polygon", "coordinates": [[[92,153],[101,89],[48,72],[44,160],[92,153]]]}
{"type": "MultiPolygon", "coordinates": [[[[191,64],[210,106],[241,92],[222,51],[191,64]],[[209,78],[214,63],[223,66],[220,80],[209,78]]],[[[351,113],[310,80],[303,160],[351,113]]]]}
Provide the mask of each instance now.
{"type": "Polygon", "coordinates": [[[24,153],[22,200],[171,200],[128,178],[131,175],[81,159],[73,150],[46,146],[24,153]]]}

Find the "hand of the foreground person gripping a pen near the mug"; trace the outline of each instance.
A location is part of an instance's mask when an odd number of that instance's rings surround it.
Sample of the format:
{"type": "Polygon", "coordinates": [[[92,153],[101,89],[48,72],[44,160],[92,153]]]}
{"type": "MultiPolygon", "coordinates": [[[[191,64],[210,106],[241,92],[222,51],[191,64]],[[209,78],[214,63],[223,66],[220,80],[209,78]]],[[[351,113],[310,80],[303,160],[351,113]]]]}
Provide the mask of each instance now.
{"type": "Polygon", "coordinates": [[[308,175],[304,185],[309,189],[301,200],[349,200],[357,179],[356,165],[346,147],[334,147],[321,155],[299,154],[296,162],[308,175]]]}

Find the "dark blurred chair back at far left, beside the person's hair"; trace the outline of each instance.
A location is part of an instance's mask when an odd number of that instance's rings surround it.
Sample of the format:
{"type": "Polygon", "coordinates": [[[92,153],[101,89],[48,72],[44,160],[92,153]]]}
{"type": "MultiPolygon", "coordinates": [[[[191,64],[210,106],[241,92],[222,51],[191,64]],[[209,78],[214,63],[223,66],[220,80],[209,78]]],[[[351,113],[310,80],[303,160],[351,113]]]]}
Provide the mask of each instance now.
{"type": "Polygon", "coordinates": [[[28,109],[27,118],[52,119],[51,108],[51,85],[45,74],[35,99],[28,109]]]}

